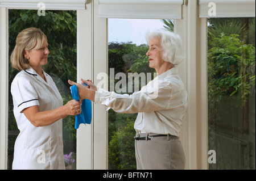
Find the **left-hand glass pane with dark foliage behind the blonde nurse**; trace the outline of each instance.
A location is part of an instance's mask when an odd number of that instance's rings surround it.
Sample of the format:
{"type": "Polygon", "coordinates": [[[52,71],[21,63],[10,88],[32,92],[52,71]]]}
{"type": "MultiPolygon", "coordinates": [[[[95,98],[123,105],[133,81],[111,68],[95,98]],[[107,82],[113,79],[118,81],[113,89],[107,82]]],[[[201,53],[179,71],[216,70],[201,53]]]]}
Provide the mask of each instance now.
{"type": "MultiPolygon", "coordinates": [[[[43,69],[55,82],[63,98],[63,104],[72,99],[68,79],[75,80],[77,75],[76,17],[76,11],[45,11],[45,15],[39,16],[38,10],[9,10],[9,59],[15,47],[15,40],[18,33],[29,27],[40,28],[47,36],[50,52],[48,55],[48,64],[43,69]]],[[[19,134],[13,114],[13,98],[10,92],[11,82],[13,82],[17,73],[18,70],[11,67],[9,60],[7,169],[12,169],[14,143],[19,134]]],[[[66,169],[76,169],[75,116],[68,116],[63,119],[63,144],[64,155],[67,154],[67,162],[69,162],[65,163],[67,166],[66,169]]]]}

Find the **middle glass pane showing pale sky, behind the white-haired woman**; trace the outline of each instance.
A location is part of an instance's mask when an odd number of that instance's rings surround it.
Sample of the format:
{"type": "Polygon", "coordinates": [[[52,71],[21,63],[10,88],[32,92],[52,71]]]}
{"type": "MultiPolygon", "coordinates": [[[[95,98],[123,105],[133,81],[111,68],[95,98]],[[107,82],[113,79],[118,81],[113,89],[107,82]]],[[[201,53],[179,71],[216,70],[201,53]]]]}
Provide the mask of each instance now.
{"type": "MultiPolygon", "coordinates": [[[[108,19],[109,91],[132,94],[152,80],[155,69],[148,66],[145,34],[163,26],[173,30],[172,20],[108,19]],[[131,78],[136,74],[144,76],[131,78]]],[[[137,113],[123,114],[109,110],[109,169],[137,168],[134,151],[136,117],[137,113]]]]}

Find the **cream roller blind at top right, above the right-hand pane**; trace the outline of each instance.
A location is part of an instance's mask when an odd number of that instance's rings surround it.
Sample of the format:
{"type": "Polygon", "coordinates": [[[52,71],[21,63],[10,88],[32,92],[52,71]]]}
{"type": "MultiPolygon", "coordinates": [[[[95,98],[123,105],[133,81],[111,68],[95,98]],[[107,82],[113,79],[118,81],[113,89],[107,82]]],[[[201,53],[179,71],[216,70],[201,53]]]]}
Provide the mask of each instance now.
{"type": "Polygon", "coordinates": [[[255,17],[255,0],[199,0],[199,17],[255,17]]]}

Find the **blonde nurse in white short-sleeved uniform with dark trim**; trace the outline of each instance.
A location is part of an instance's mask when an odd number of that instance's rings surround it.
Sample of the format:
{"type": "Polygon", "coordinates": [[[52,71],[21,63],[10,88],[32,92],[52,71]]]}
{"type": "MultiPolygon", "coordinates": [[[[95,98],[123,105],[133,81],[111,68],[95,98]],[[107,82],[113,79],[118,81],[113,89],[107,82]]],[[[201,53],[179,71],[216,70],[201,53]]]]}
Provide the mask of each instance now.
{"type": "Polygon", "coordinates": [[[38,28],[19,33],[11,64],[20,70],[11,83],[19,135],[13,169],[65,169],[62,119],[81,113],[81,102],[63,100],[52,78],[42,70],[49,54],[47,37],[38,28]]]}

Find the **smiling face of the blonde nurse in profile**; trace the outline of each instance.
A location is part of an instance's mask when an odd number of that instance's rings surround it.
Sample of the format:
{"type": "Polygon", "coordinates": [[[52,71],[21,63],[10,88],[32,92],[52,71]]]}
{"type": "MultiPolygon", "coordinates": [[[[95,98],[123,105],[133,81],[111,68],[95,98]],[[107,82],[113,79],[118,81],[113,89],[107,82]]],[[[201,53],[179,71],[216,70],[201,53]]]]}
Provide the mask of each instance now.
{"type": "Polygon", "coordinates": [[[28,59],[32,67],[38,67],[47,64],[48,54],[48,43],[47,40],[44,39],[42,47],[39,49],[33,48],[29,51],[25,50],[24,56],[28,59]]]}

